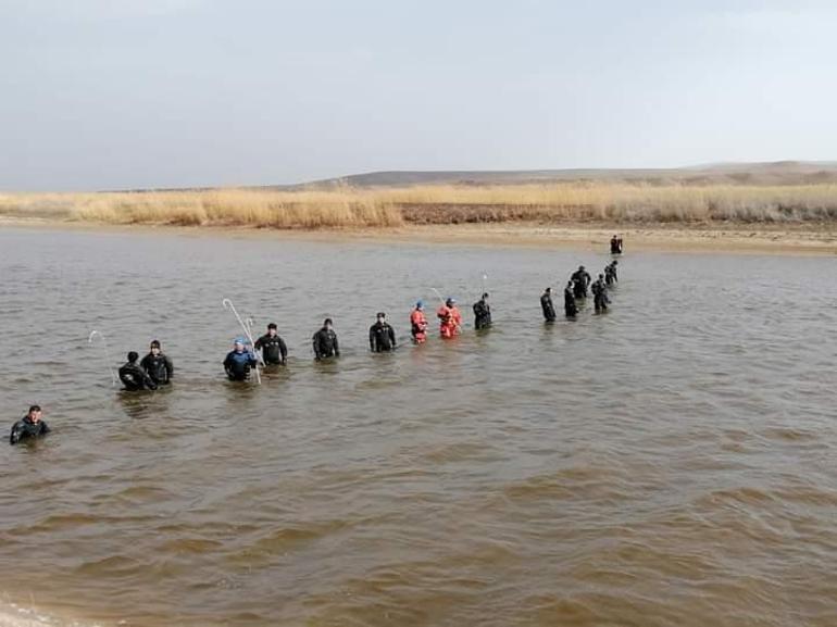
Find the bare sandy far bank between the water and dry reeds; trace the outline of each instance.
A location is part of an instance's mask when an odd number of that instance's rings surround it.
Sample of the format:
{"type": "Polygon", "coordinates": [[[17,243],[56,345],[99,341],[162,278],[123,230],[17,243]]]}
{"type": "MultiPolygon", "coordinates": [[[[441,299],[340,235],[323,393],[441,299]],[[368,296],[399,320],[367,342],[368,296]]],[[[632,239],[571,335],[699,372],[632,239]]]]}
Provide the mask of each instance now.
{"type": "Polygon", "coordinates": [[[613,234],[620,234],[625,239],[627,252],[837,254],[837,228],[828,223],[794,225],[649,223],[625,225],[605,222],[567,224],[500,222],[415,224],[398,227],[272,229],[224,225],[105,224],[48,217],[0,216],[0,228],[165,233],[191,237],[258,237],[322,242],[379,241],[526,248],[565,247],[599,251],[607,251],[610,237],[613,234]]]}

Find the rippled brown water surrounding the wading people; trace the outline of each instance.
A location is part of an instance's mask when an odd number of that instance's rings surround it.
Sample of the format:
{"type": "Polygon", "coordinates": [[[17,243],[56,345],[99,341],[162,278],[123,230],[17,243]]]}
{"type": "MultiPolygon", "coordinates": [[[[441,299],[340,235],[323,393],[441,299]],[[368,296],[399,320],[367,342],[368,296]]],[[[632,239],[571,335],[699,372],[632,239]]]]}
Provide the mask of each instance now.
{"type": "Polygon", "coordinates": [[[837,625],[837,260],[632,253],[609,314],[545,326],[542,289],[608,260],[0,231],[3,415],[54,430],[0,447],[0,599],[150,627],[837,625]],[[495,329],[409,344],[416,298],[467,306],[484,273],[495,329]],[[261,387],[223,376],[224,297],[288,342],[261,387]],[[343,359],[314,364],[326,315],[343,359]],[[159,338],[175,386],[112,389],[92,329],[113,361],[159,338]]]}

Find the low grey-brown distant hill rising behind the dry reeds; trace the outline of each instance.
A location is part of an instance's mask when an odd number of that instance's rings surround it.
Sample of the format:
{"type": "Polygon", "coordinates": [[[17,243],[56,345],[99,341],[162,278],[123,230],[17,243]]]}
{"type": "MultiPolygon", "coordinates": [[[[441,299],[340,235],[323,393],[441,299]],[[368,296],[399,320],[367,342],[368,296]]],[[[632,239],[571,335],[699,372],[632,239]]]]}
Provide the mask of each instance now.
{"type": "Polygon", "coordinates": [[[272,189],[403,187],[415,185],[522,185],[562,181],[630,181],[649,185],[807,185],[837,184],[837,162],[777,161],[771,163],[715,163],[675,168],[578,168],[509,171],[390,171],[354,174],[272,189]]]}

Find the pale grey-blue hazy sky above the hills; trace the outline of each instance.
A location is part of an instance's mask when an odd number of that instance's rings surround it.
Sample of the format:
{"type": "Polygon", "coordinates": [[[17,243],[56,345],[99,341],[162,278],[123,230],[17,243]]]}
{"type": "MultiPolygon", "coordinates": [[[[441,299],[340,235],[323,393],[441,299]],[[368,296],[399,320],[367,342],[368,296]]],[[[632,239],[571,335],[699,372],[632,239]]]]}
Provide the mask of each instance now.
{"type": "Polygon", "coordinates": [[[0,190],[837,160],[830,0],[0,0],[0,190]]]}

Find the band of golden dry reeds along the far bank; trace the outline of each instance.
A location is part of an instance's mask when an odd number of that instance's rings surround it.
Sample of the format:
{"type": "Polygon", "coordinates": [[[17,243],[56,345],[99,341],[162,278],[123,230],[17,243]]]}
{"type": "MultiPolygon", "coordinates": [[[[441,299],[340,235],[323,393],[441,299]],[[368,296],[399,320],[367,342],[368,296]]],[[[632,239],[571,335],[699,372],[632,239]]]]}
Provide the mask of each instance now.
{"type": "Polygon", "coordinates": [[[0,195],[0,214],[116,224],[267,228],[390,227],[404,223],[804,223],[837,220],[837,185],[565,183],[329,190],[0,195]]]}

